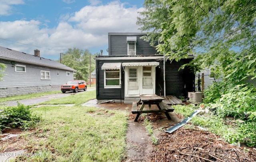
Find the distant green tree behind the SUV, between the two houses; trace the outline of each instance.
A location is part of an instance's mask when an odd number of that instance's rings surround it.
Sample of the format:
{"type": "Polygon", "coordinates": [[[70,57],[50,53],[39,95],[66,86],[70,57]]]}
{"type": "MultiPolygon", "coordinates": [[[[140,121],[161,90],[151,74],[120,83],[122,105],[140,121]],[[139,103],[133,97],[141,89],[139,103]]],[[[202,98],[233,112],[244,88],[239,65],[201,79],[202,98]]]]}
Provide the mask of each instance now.
{"type": "Polygon", "coordinates": [[[78,48],[68,48],[61,56],[61,63],[73,68],[76,71],[76,78],[81,80],[88,80],[90,72],[95,69],[94,57],[96,54],[92,55],[89,50],[80,50],[78,48]],[[91,57],[91,71],[90,70],[90,57],[91,57]]]}

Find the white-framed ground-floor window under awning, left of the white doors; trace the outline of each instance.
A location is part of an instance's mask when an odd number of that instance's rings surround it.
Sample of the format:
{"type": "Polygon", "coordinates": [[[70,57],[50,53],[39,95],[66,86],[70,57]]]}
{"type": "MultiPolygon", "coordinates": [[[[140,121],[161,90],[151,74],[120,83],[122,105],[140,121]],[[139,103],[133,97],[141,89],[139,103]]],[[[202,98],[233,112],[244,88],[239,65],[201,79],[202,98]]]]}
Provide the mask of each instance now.
{"type": "Polygon", "coordinates": [[[104,72],[104,88],[120,88],[120,69],[108,70],[104,72]]]}

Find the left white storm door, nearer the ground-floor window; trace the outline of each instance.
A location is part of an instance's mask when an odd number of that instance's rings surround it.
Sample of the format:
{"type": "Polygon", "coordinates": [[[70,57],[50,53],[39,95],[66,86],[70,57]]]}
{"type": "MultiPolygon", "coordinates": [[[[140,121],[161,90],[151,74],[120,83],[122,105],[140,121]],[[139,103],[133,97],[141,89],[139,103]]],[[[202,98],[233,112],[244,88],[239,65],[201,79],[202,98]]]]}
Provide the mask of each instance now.
{"type": "Polygon", "coordinates": [[[139,79],[138,79],[138,67],[130,66],[128,67],[128,87],[127,94],[128,95],[138,95],[139,91],[139,79]]]}

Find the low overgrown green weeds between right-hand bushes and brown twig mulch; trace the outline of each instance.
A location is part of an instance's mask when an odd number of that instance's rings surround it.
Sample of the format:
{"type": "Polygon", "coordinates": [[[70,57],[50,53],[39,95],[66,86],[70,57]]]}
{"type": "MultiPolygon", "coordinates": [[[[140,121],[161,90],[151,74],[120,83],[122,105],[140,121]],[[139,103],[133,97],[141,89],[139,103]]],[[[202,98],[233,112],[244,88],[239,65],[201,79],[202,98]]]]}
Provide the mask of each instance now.
{"type": "MultiPolygon", "coordinates": [[[[184,117],[192,114],[195,109],[199,109],[199,106],[192,105],[176,105],[173,107],[174,112],[182,114],[184,117]]],[[[246,146],[256,146],[256,122],[254,121],[237,122],[234,118],[228,120],[209,112],[208,114],[194,116],[190,122],[221,136],[229,143],[237,144],[240,142],[246,144],[246,146]]]]}

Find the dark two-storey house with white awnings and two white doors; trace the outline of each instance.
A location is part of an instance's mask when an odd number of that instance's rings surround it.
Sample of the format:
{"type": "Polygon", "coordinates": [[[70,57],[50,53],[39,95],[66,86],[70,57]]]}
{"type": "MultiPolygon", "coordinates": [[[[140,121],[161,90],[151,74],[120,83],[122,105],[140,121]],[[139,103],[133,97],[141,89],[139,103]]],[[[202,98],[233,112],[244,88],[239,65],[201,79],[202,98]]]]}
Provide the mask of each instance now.
{"type": "Polygon", "coordinates": [[[179,62],[167,60],[142,39],[144,33],[108,33],[108,56],[96,57],[98,102],[130,103],[141,94],[187,96],[193,92],[194,74],[178,70],[193,57],[179,62]],[[165,66],[165,74],[164,74],[165,66]],[[164,86],[164,78],[165,84],[164,86]]]}

